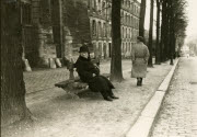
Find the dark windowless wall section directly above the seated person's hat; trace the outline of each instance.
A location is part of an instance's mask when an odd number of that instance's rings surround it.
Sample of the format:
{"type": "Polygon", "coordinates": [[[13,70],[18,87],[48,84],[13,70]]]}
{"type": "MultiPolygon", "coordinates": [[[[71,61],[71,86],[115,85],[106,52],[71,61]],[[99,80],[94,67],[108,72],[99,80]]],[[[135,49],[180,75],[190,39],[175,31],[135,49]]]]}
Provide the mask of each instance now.
{"type": "Polygon", "coordinates": [[[91,42],[88,0],[63,0],[63,23],[73,38],[72,49],[73,55],[77,55],[84,41],[91,42]]]}

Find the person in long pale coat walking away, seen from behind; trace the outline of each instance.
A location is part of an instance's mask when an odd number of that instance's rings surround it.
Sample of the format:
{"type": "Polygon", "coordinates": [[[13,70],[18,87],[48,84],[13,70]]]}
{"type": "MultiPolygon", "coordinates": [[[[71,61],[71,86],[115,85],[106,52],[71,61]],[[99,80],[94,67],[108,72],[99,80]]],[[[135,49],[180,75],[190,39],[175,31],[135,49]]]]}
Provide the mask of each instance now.
{"type": "Polygon", "coordinates": [[[142,36],[137,37],[137,44],[134,45],[131,50],[132,70],[131,78],[137,78],[137,85],[142,85],[142,79],[147,75],[147,65],[149,59],[149,49],[143,44],[142,36]]]}

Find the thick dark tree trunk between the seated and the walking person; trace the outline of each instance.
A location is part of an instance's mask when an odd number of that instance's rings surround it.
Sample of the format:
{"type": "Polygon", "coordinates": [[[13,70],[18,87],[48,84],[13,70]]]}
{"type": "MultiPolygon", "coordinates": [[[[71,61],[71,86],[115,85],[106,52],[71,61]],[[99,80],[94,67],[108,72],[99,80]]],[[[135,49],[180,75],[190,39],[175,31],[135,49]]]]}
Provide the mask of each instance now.
{"type": "Polygon", "coordinates": [[[111,60],[111,80],[121,81],[121,35],[120,35],[120,0],[112,1],[112,60],[111,60]]]}

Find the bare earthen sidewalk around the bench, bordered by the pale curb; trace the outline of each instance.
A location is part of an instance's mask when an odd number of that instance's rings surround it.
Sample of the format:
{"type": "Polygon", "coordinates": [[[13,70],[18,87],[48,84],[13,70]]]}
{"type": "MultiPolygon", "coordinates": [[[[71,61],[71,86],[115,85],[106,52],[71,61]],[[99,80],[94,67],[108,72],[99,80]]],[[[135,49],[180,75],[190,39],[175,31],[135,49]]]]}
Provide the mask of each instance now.
{"type": "MultiPolygon", "coordinates": [[[[106,102],[100,93],[92,92],[81,94],[80,99],[69,99],[62,89],[50,88],[49,83],[54,82],[53,79],[59,80],[58,75],[57,77],[44,77],[49,88],[26,95],[27,107],[36,121],[25,133],[19,130],[13,136],[18,137],[19,134],[19,137],[125,136],[172,66],[165,62],[148,68],[148,77],[143,81],[143,87],[136,87],[136,79],[130,78],[130,60],[124,60],[123,66],[125,81],[114,82],[116,87],[114,93],[120,99],[113,102],[106,102]]],[[[101,65],[101,70],[108,72],[109,64],[101,65]]],[[[62,77],[61,72],[57,73],[62,77]]],[[[38,76],[42,75],[37,75],[37,79],[38,76]]],[[[28,76],[25,77],[26,85],[31,85],[27,83],[28,76]]]]}

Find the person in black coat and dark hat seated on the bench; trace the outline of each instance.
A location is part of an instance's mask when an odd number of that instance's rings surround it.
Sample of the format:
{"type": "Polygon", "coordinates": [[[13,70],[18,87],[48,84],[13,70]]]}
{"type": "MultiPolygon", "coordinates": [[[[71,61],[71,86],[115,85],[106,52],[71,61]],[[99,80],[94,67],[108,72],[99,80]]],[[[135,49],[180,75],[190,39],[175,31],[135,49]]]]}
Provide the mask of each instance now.
{"type": "Polygon", "coordinates": [[[118,99],[112,92],[112,89],[115,89],[112,82],[107,78],[101,76],[99,67],[91,61],[88,46],[81,46],[79,53],[80,56],[74,66],[80,79],[86,82],[93,92],[101,92],[104,100],[113,101],[113,99],[118,99]]]}

